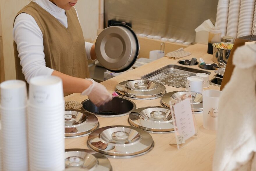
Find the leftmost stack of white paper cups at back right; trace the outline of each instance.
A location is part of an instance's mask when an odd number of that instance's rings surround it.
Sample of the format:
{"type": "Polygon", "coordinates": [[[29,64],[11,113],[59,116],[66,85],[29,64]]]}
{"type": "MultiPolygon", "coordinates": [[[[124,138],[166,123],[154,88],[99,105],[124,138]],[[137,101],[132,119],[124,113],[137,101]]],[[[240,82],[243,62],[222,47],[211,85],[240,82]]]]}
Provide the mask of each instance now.
{"type": "Polygon", "coordinates": [[[218,1],[216,23],[217,23],[218,28],[221,29],[221,36],[226,35],[228,1],[229,0],[219,0],[218,1]]]}

